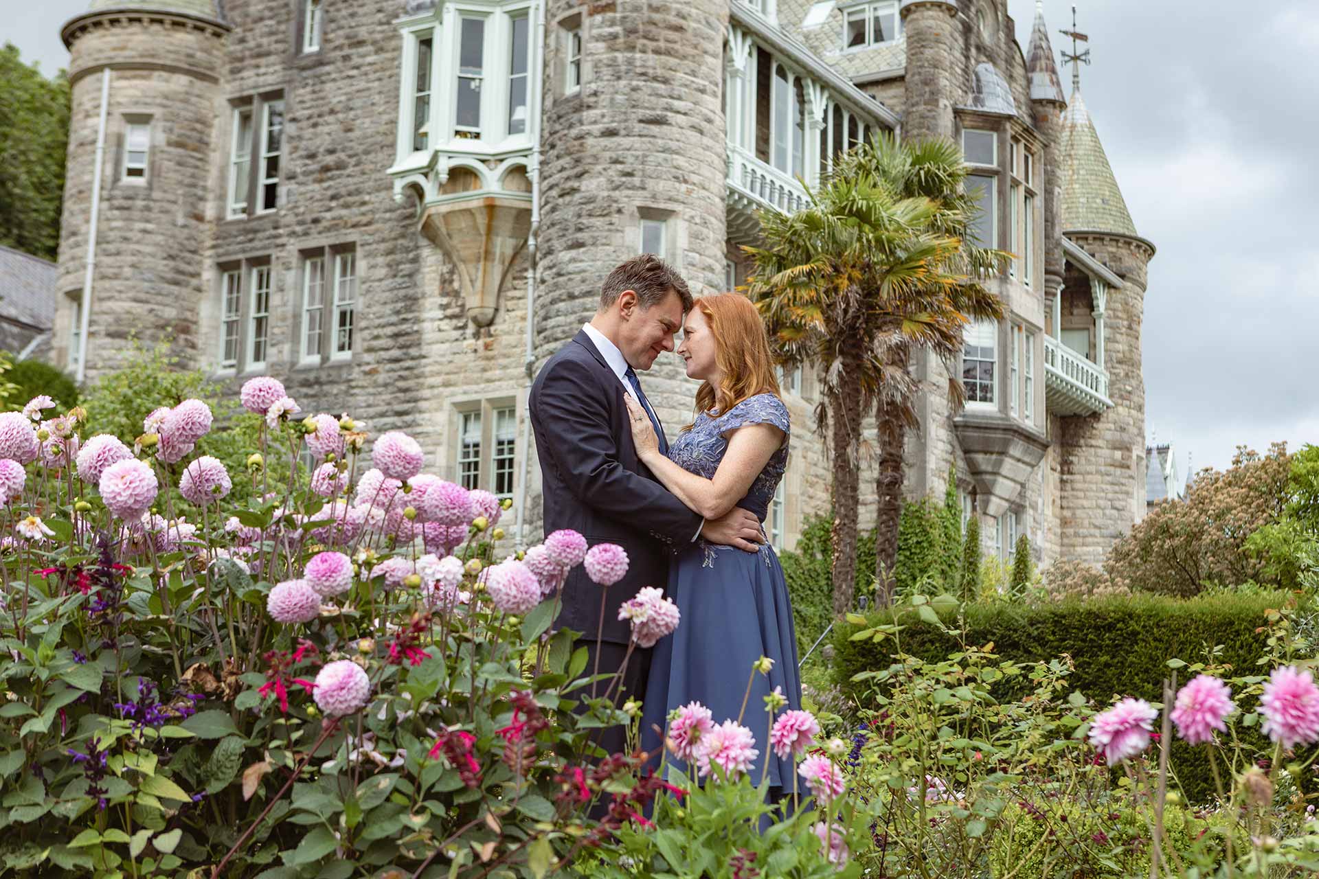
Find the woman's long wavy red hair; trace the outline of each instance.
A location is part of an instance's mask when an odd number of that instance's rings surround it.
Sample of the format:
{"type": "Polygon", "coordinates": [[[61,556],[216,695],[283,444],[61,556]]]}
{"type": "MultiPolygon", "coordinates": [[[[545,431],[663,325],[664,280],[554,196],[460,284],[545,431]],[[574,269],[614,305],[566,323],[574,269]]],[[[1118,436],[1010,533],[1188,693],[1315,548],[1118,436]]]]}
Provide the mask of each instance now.
{"type": "MultiPolygon", "coordinates": [[[[692,306],[706,318],[715,337],[715,362],[723,378],[719,387],[700,382],[696,391],[698,412],[727,412],[756,394],[778,391],[774,357],[769,352],[769,333],[751,299],[740,293],[716,293],[700,297],[692,306]]],[[[687,424],[682,430],[691,430],[687,424]]]]}

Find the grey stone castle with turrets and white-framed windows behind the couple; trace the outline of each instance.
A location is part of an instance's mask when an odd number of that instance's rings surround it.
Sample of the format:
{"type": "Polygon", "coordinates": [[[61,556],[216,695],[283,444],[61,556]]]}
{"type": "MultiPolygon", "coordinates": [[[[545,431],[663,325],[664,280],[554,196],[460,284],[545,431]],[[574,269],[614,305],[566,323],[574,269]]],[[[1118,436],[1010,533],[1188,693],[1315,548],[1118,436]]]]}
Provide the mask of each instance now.
{"type": "MultiPolygon", "coordinates": [[[[1004,0],[92,0],[71,51],[54,358],[80,380],[169,335],[306,414],[406,430],[427,470],[539,527],[526,393],[638,252],[745,281],[756,212],[860,140],[962,144],[976,235],[1017,256],[967,332],[952,411],[918,358],[907,493],[956,472],[985,550],[1100,561],[1145,510],[1137,235],[1037,9],[1004,0]]],[[[670,435],[695,386],[645,377],[670,435]]],[[[828,509],[815,378],[783,376],[791,546],[828,509]]],[[[873,484],[873,482],[871,482],[873,484]]],[[[867,485],[863,476],[863,486],[867,485]]],[[[865,492],[863,490],[863,497],[865,492]]],[[[863,503],[863,513],[868,505],[863,503]]]]}

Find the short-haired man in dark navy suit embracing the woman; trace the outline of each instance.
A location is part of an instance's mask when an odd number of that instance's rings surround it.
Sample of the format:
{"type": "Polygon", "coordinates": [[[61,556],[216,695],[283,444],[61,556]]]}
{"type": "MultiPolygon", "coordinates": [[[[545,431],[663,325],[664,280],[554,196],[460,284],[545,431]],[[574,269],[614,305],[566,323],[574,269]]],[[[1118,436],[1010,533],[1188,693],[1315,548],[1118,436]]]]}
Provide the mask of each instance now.
{"type": "MultiPolygon", "coordinates": [[[[733,507],[721,519],[706,522],[637,460],[623,395],[630,393],[641,402],[661,451],[667,451],[637,370],[650,369],[656,357],[674,349],[674,336],[690,308],[687,283],[670,266],[650,254],[633,257],[609,273],[595,316],[546,361],[532,385],[545,532],[572,528],[591,546],[616,543],[627,550],[630,563],[628,576],[609,586],[605,597],[601,673],[619,671],[628,650],[630,629],[619,619],[619,605],[641,586],[667,585],[669,552],[698,536],[748,552],[764,540],[752,513],[733,507]]],[[[595,667],[600,590],[586,571],[575,568],[563,586],[563,609],[555,621],[558,627],[584,633],[575,647],[590,650],[587,669],[595,667]]],[[[650,651],[638,647],[615,689],[616,705],[645,698],[649,669],[650,651]]],[[[596,741],[615,754],[627,746],[625,730],[601,730],[596,741]]]]}

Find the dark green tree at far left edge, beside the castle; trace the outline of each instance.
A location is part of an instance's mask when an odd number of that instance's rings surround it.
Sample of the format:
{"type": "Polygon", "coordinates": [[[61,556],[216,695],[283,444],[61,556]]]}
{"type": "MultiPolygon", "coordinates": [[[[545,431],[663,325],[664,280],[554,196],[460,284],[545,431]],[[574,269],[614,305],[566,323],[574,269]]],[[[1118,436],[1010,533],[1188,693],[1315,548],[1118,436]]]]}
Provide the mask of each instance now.
{"type": "Polygon", "coordinates": [[[0,244],[54,260],[65,196],[69,78],[0,49],[0,244]]]}

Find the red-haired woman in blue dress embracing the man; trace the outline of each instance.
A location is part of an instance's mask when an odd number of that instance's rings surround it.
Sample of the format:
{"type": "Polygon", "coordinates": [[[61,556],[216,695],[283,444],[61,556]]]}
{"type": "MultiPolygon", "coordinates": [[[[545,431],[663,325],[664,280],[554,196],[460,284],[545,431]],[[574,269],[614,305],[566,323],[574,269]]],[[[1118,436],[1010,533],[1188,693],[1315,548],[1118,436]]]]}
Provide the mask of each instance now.
{"type": "MultiPolygon", "coordinates": [[[[687,312],[678,354],[687,362],[687,376],[702,381],[695,422],[682,430],[666,457],[650,419],[629,395],[641,463],[707,519],[741,506],[764,521],[783,477],[789,438],[787,407],[778,398],[765,324],[745,297],[703,297],[687,312]]],[[[652,655],[642,747],[660,749],[654,727],[665,729],[674,708],[698,701],[716,723],[741,716],[754,733],[760,755],[752,781],[760,783],[768,759],[770,785],[791,787],[791,758],[778,759],[769,747],[772,718],[764,700],[780,688],[787,700],[780,710],[801,708],[793,610],[773,547],[766,542],[758,552],[744,552],[698,540],[670,563],[667,594],[682,623],[652,655]],[[772,659],[773,667],[768,675],[752,675],[761,656],[772,659]]],[[[686,766],[669,759],[686,772],[686,766]]]]}

